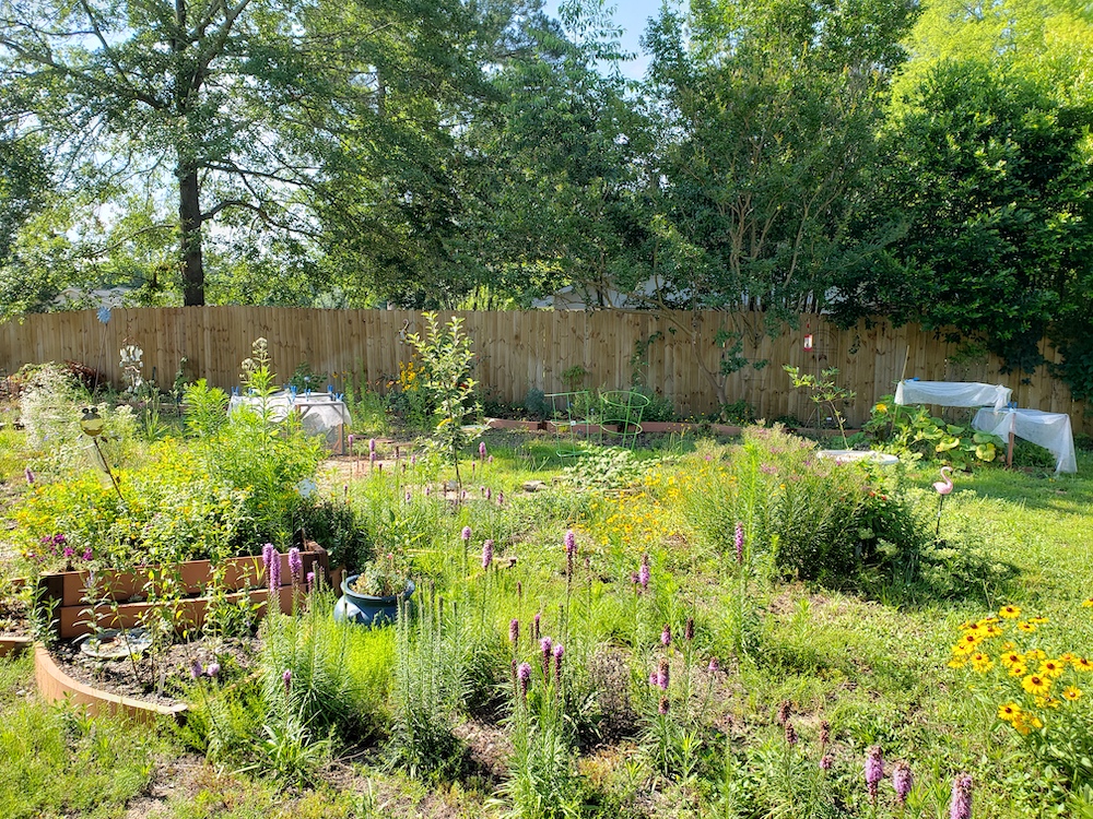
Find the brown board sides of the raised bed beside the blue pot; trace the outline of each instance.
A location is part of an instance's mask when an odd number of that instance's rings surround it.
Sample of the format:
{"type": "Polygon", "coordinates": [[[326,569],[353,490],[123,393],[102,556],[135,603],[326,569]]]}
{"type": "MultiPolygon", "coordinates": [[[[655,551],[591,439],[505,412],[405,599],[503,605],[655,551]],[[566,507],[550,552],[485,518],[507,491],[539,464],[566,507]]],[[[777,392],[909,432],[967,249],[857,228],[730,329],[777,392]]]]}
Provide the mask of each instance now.
{"type": "MultiPolygon", "coordinates": [[[[304,573],[314,571],[317,577],[327,575],[327,553],[320,546],[310,544],[307,551],[301,553],[304,573]]],[[[228,593],[231,603],[249,598],[257,608],[255,616],[266,615],[269,605],[269,591],[263,584],[265,572],[260,557],[238,557],[225,561],[226,571],[223,587],[228,593]]],[[[183,593],[192,595],[178,601],[178,628],[200,627],[204,621],[209,606],[208,597],[203,596],[208,584],[212,581],[213,567],[208,560],[191,560],[177,563],[169,573],[179,579],[183,593]]],[[[158,570],[157,572],[158,573],[158,570]]],[[[94,613],[84,602],[86,594],[87,572],[69,571],[46,574],[38,581],[43,600],[51,603],[54,624],[57,636],[61,639],[81,637],[90,633],[91,617],[94,615],[98,628],[134,628],[140,626],[146,615],[160,603],[146,603],[139,600],[146,593],[148,573],[106,571],[99,575],[99,586],[96,597],[104,601],[96,605],[94,613]],[[143,577],[142,577],[143,574],[143,577]],[[109,597],[110,603],[105,602],[109,597]],[[138,600],[133,600],[138,597],[138,600]]],[[[152,590],[154,591],[154,590],[152,590]]],[[[274,592],[274,606],[290,614],[293,610],[292,575],[289,571],[289,556],[281,555],[281,586],[274,592]]]]}

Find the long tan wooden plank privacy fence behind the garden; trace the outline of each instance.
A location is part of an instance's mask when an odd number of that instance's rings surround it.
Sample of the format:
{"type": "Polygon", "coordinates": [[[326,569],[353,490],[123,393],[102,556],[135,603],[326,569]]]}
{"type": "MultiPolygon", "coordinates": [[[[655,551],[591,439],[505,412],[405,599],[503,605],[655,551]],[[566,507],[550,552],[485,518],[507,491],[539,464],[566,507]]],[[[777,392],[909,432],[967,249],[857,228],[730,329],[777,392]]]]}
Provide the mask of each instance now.
{"type": "MultiPolygon", "coordinates": [[[[728,317],[718,312],[658,316],[653,312],[474,311],[442,312],[443,321],[460,316],[478,354],[475,377],[500,401],[521,402],[529,389],[562,392],[566,370],[587,372],[583,387],[620,389],[637,378],[670,397],[683,413],[716,408],[717,394],[698,366],[716,370],[715,344],[728,317]],[[694,328],[692,333],[685,329],[694,328]],[[674,332],[673,332],[674,331],[674,332]]],[[[386,385],[409,361],[406,334],[423,328],[421,313],[410,310],[318,310],[283,307],[137,308],[111,311],[102,322],[94,310],[27,316],[22,323],[0,324],[0,368],[9,373],[28,363],[75,360],[120,379],[118,351],[136,344],[144,351],[144,377],[169,387],[183,358],[188,380],[205,378],[231,389],[239,383],[239,364],[250,355],[255,339],[269,341],[274,368],[287,381],[306,361],[317,372],[331,373],[337,389],[368,382],[386,385]]],[[[1046,342],[1042,353],[1058,361],[1046,342]]],[[[846,410],[851,425],[894,391],[901,377],[922,380],[988,381],[1013,389],[1020,406],[1069,413],[1076,431],[1093,431],[1085,406],[1071,400],[1066,384],[1041,367],[1034,373],[1001,375],[994,357],[967,361],[959,345],[943,333],[916,325],[893,328],[881,321],[839,330],[816,316],[802,316],[800,329],[788,327],[774,339],[747,344],[742,355],[752,363],[728,377],[728,400],[750,402],[759,417],[813,413],[806,396],[791,389],[784,364],[807,372],[837,367],[842,385],[857,392],[846,410]],[[813,336],[806,349],[806,333],[813,336]],[[963,360],[963,363],[959,363],[963,360]]]]}

